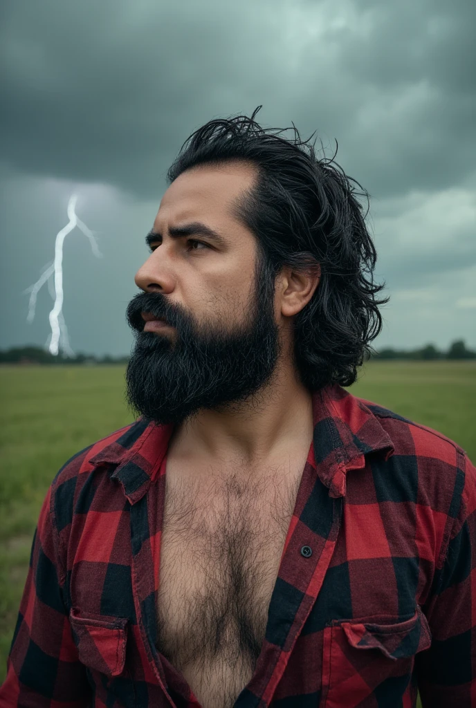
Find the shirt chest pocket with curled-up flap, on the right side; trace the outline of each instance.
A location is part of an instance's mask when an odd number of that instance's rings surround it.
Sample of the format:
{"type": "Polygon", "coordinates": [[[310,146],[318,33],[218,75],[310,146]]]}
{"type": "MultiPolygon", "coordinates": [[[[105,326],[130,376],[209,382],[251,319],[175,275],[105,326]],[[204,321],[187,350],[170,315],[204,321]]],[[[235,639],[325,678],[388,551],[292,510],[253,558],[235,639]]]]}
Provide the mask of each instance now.
{"type": "Polygon", "coordinates": [[[430,645],[431,632],[419,606],[406,622],[334,620],[324,628],[320,707],[364,706],[375,691],[382,700],[388,691],[385,705],[401,705],[414,656],[430,645]]]}

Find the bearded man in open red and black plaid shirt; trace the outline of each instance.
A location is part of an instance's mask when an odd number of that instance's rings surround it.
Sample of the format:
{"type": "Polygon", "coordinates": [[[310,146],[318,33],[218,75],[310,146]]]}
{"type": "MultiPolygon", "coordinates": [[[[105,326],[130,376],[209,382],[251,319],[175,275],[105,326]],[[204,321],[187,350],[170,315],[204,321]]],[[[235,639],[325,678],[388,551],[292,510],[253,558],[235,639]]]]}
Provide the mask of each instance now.
{"type": "Polygon", "coordinates": [[[142,417],[52,483],[2,708],[476,705],[475,468],[341,388],[375,249],[257,110],[169,171],[128,307],[142,417]]]}

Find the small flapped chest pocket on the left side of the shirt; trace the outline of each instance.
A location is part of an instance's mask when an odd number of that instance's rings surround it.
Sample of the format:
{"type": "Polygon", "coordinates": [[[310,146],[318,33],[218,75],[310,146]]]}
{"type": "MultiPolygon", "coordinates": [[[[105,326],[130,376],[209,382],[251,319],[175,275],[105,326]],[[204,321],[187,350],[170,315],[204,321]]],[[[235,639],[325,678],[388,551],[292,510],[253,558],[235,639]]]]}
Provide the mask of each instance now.
{"type": "Polygon", "coordinates": [[[78,648],[79,661],[87,668],[107,676],[123,672],[128,619],[69,612],[69,622],[78,648]]]}

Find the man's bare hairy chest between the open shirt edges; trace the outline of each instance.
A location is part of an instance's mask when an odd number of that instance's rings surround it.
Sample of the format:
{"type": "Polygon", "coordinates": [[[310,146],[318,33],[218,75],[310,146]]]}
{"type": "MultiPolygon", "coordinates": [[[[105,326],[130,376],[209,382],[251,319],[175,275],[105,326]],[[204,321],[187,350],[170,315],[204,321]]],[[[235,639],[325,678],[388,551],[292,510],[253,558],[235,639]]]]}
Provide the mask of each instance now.
{"type": "Polygon", "coordinates": [[[196,480],[167,465],[158,649],[204,707],[232,705],[254,673],[304,465],[196,480]]]}

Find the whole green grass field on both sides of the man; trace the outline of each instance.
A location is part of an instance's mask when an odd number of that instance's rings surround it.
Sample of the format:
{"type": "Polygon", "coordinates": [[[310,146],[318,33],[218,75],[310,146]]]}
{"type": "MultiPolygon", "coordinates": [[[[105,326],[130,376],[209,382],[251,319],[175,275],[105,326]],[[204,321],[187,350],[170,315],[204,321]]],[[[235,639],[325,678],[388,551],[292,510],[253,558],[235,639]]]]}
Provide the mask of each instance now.
{"type": "MultiPolygon", "coordinates": [[[[132,421],[123,390],[121,366],[0,367],[0,683],[47,488],[75,452],[132,421]]],[[[371,362],[350,390],[476,461],[476,362],[371,362]]]]}

